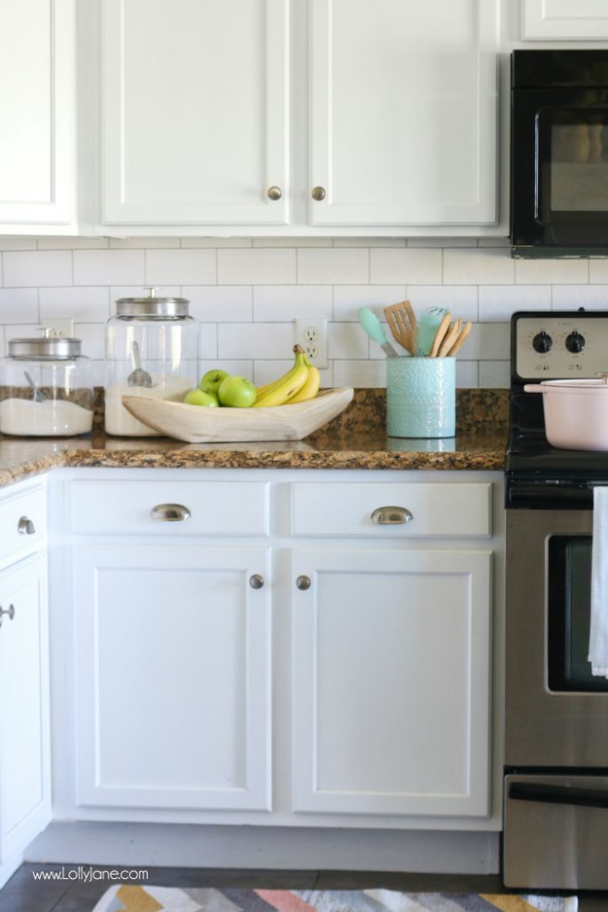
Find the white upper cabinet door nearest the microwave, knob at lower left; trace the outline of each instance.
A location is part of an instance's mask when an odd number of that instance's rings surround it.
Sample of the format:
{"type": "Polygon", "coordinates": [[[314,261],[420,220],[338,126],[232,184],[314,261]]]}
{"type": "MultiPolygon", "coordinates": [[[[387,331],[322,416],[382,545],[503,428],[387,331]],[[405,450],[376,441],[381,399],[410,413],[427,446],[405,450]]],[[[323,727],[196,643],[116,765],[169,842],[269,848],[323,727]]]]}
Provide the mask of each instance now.
{"type": "Polygon", "coordinates": [[[311,223],[495,223],[497,0],[311,3],[311,223]]]}

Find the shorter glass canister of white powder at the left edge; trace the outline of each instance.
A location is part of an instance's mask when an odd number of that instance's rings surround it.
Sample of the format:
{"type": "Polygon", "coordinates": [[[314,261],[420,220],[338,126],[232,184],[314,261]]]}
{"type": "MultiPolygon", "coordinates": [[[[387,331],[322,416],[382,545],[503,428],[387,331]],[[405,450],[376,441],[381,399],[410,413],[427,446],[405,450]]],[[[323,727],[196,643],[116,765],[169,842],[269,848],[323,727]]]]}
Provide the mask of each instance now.
{"type": "Polygon", "coordinates": [[[93,426],[90,361],[77,338],[10,339],[0,360],[0,431],[74,437],[93,426]]]}

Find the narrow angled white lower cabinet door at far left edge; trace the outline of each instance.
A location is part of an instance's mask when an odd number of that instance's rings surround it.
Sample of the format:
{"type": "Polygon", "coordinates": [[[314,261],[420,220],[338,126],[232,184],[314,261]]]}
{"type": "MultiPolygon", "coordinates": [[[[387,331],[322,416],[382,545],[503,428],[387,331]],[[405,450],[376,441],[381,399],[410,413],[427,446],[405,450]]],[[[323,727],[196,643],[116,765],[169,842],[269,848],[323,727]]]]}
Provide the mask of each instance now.
{"type": "Polygon", "coordinates": [[[46,558],[0,574],[0,857],[50,820],[46,558]]]}

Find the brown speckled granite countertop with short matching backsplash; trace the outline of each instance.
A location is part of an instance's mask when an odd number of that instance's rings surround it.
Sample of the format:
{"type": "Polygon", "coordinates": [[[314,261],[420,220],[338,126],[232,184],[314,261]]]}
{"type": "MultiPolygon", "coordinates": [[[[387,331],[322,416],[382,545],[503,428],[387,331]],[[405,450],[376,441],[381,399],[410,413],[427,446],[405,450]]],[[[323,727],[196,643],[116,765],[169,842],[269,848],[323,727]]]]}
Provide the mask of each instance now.
{"type": "Polygon", "coordinates": [[[343,415],[304,440],[181,443],[109,437],[101,430],[73,439],[0,436],[0,486],[57,466],[501,471],[506,416],[506,390],[463,389],[458,390],[455,437],[387,438],[384,390],[356,390],[343,415]]]}

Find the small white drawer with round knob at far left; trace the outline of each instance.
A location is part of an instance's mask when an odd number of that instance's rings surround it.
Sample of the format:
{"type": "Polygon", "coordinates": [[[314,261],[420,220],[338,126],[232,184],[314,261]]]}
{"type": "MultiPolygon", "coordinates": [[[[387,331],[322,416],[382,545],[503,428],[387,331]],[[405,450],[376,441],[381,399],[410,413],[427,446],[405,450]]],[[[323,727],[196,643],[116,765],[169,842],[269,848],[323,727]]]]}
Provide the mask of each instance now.
{"type": "Polygon", "coordinates": [[[7,488],[0,501],[0,561],[21,559],[46,539],[46,488],[23,492],[7,488]]]}

